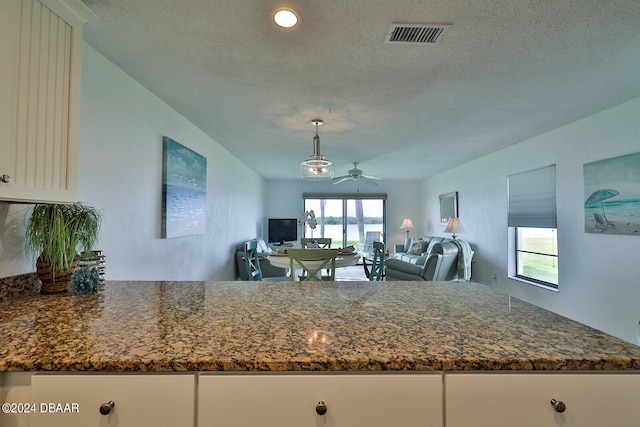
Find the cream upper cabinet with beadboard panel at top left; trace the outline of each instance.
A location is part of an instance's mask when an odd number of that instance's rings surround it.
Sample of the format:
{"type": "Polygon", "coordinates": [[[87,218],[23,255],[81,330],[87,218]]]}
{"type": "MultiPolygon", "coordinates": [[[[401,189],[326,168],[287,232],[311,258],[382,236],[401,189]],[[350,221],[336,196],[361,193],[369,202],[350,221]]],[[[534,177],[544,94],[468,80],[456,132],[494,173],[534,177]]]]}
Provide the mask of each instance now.
{"type": "Polygon", "coordinates": [[[80,0],[0,3],[0,200],[75,200],[90,20],[80,0]]]}

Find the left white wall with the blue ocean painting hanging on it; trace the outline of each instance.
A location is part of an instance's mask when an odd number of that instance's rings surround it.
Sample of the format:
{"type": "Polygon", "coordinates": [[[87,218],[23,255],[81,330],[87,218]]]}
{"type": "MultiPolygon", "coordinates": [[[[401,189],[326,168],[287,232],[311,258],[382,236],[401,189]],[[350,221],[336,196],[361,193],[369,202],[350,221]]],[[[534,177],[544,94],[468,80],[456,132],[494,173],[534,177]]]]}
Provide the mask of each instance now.
{"type": "MultiPolygon", "coordinates": [[[[78,200],[104,215],[109,280],[234,280],[235,247],[259,232],[264,181],[158,97],[84,45],[78,200]],[[206,234],[161,238],[162,137],[207,158],[206,234]]],[[[25,210],[0,204],[0,277],[34,271],[25,210]]]]}

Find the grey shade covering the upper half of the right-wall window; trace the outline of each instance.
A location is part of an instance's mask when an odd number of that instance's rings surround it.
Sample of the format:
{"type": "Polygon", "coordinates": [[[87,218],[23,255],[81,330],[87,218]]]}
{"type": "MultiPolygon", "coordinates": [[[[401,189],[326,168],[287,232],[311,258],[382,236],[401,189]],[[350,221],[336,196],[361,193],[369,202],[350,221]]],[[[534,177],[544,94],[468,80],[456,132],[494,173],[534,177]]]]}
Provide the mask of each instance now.
{"type": "Polygon", "coordinates": [[[556,165],[507,177],[509,227],[557,228],[556,165]]]}

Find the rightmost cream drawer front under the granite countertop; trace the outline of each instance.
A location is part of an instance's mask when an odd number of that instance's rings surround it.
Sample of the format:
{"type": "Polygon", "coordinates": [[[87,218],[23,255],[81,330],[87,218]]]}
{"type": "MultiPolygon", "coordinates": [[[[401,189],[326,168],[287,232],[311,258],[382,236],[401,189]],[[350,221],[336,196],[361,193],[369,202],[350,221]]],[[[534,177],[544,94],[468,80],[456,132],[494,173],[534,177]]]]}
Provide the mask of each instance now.
{"type": "Polygon", "coordinates": [[[447,427],[637,427],[640,374],[447,374],[445,402],[447,427]]]}

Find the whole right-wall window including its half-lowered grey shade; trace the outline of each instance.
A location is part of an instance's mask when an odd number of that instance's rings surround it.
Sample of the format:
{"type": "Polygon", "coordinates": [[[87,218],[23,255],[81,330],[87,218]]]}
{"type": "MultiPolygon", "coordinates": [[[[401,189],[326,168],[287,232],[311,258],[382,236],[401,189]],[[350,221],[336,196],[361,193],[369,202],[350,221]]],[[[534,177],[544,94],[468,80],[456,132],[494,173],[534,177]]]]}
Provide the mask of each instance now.
{"type": "Polygon", "coordinates": [[[555,165],[507,178],[509,276],[558,289],[555,165]]]}

